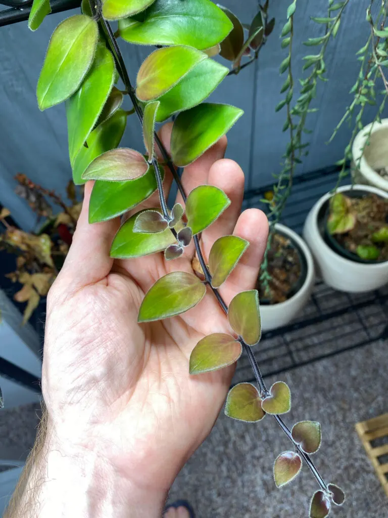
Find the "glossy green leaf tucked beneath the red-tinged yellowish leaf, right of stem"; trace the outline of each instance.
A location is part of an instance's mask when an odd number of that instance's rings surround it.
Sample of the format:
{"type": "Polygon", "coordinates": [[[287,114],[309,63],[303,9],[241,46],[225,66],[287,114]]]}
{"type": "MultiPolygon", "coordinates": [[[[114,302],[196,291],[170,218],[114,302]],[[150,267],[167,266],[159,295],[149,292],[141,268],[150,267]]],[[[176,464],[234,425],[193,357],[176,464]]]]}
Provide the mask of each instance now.
{"type": "Polygon", "coordinates": [[[201,61],[171,90],[159,97],[160,106],[156,114],[157,122],[163,122],[173,113],[196,106],[218,86],[228,74],[227,67],[213,60],[201,61]]]}

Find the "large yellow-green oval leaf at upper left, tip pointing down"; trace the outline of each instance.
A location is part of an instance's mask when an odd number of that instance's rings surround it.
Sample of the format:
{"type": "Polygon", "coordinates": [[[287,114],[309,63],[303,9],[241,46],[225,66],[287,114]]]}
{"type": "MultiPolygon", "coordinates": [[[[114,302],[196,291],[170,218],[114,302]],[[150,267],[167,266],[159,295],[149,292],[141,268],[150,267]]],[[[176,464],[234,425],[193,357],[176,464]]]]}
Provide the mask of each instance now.
{"type": "Polygon", "coordinates": [[[68,99],[80,86],[93,62],[98,26],[85,15],[59,23],[51,36],[36,95],[40,110],[68,99]]]}

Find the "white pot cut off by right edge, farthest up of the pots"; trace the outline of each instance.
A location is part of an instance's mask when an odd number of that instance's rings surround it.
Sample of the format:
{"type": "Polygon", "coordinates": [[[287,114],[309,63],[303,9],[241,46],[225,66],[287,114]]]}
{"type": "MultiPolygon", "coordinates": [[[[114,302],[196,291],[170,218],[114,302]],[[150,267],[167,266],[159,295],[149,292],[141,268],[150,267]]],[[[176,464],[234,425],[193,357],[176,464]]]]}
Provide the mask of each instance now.
{"type": "Polygon", "coordinates": [[[388,180],[375,170],[388,167],[388,119],[382,119],[381,123],[370,123],[357,133],[353,140],[352,157],[352,176],[356,183],[374,185],[388,191],[388,180]],[[365,146],[370,128],[369,145],[365,146]]]}

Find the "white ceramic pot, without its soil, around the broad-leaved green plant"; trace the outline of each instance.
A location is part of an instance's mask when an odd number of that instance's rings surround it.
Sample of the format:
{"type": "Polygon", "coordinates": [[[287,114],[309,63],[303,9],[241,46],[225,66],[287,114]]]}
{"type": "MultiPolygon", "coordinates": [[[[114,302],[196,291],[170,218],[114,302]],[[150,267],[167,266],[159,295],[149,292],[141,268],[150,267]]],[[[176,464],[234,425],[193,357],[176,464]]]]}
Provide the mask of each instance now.
{"type": "MultiPolygon", "coordinates": [[[[338,191],[351,189],[351,185],[344,185],[338,191]]],[[[388,198],[388,193],[371,185],[354,185],[354,189],[379,194],[388,198]]],[[[363,264],[352,261],[332,250],[322,237],[323,229],[318,226],[318,215],[324,211],[323,205],[331,197],[325,194],[312,207],[307,215],[303,228],[303,237],[314,255],[317,270],[326,284],[335,290],[350,293],[376,290],[388,282],[388,261],[376,264],[363,264]]]]}

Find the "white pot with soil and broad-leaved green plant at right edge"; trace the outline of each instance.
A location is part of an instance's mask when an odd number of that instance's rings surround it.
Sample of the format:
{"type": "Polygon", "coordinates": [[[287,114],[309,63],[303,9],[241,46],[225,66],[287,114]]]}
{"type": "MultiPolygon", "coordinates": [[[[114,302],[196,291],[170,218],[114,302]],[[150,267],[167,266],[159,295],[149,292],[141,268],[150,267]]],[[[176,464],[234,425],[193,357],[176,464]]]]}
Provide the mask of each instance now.
{"type": "Polygon", "coordinates": [[[345,185],[322,196],[303,229],[323,280],[336,290],[365,292],[388,282],[388,193],[345,185]]]}

